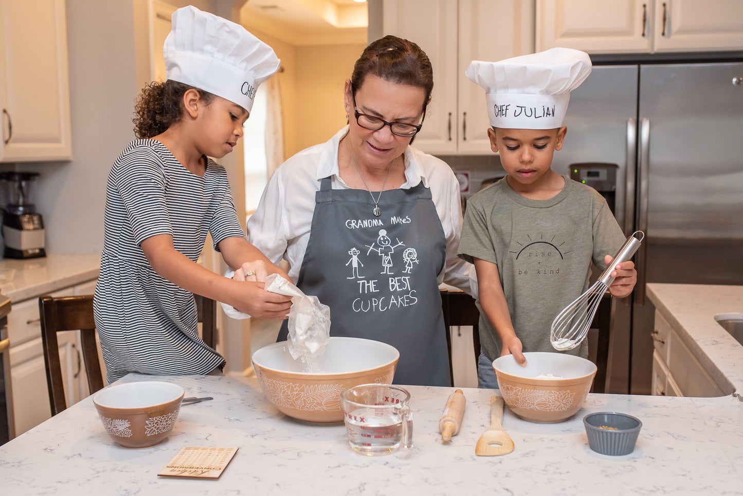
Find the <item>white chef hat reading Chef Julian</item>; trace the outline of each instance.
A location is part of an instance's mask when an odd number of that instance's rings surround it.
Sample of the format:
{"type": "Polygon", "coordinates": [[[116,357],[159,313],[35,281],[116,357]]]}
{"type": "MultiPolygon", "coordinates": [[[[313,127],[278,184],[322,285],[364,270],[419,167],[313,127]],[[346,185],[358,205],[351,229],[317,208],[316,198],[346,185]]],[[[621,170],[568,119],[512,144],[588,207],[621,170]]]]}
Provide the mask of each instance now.
{"type": "Polygon", "coordinates": [[[554,129],[562,125],[570,92],[591,74],[588,53],[551,48],[500,62],[473,60],[464,73],[485,89],[496,128],[554,129]]]}

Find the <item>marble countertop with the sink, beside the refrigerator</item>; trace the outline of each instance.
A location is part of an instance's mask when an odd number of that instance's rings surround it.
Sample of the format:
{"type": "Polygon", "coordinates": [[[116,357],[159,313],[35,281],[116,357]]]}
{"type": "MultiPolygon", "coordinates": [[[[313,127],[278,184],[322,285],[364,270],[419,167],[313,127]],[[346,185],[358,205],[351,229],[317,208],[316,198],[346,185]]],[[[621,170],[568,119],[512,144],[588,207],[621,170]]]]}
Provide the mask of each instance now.
{"type": "Polygon", "coordinates": [[[743,313],[743,286],[649,283],[647,294],[721,389],[743,394],[743,345],[715,320],[743,313]]]}

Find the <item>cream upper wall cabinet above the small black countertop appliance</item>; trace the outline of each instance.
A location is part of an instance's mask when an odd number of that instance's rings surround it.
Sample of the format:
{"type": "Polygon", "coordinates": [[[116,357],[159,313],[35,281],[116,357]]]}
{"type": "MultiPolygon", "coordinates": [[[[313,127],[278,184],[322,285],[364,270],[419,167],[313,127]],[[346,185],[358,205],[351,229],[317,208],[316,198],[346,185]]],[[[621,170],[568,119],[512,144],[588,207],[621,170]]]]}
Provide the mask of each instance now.
{"type": "Polygon", "coordinates": [[[0,0],[0,161],[71,160],[65,0],[0,0]]]}

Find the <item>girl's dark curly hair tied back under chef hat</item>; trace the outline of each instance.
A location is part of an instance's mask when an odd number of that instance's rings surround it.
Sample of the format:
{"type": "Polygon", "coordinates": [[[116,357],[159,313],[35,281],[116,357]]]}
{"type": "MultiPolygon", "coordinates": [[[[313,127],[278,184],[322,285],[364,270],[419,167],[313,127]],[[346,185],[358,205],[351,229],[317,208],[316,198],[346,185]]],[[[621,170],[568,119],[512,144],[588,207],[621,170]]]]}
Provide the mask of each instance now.
{"type": "Polygon", "coordinates": [[[163,133],[183,117],[183,99],[186,91],[194,89],[209,105],[214,95],[178,81],[151,82],[145,85],[134,105],[134,134],[137,138],[151,138],[163,133]]]}

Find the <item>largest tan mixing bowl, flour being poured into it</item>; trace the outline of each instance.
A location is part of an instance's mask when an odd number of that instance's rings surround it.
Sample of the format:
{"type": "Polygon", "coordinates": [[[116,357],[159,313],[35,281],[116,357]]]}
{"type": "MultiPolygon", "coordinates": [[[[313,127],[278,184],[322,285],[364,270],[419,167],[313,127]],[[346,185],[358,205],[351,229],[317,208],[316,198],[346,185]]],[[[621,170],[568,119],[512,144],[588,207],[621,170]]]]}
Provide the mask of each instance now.
{"type": "Polygon", "coordinates": [[[331,336],[319,359],[319,371],[304,372],[287,342],[253,353],[253,368],[267,399],[283,414],[306,422],[343,421],[340,393],[356,385],[390,384],[400,353],[371,339],[331,336]]]}

